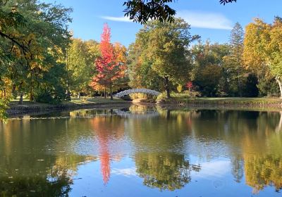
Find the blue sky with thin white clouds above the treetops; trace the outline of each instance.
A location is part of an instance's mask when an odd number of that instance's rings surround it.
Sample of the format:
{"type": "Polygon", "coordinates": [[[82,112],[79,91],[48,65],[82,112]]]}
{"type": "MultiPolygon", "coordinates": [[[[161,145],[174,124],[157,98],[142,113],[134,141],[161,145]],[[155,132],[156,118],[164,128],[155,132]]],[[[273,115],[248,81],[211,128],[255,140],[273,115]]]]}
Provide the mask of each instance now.
{"type": "MultiPolygon", "coordinates": [[[[104,23],[111,27],[111,42],[128,46],[135,41],[135,34],[142,25],[124,18],[125,0],[42,0],[73,8],[69,25],[75,38],[99,41],[104,23]]],[[[253,18],[271,23],[274,16],[282,16],[282,0],[238,0],[237,3],[219,4],[219,0],[176,0],[169,4],[191,25],[191,34],[198,34],[203,41],[228,42],[236,22],[243,27],[253,18]]]]}

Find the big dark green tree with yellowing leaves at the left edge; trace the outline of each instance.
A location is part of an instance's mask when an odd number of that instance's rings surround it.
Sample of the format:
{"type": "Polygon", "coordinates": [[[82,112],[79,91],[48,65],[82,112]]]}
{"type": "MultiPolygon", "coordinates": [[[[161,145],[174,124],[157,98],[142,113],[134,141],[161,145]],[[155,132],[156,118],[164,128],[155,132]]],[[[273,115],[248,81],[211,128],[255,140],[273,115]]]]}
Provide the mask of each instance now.
{"type": "Polygon", "coordinates": [[[57,67],[65,70],[62,57],[71,36],[67,25],[71,9],[32,0],[6,1],[0,9],[0,44],[5,51],[0,55],[8,62],[5,76],[11,81],[6,89],[15,97],[20,95],[19,103],[23,94],[28,94],[30,101],[44,94],[52,99],[61,97],[65,80],[56,82],[55,87],[47,75],[56,75],[48,71],[57,67]]]}

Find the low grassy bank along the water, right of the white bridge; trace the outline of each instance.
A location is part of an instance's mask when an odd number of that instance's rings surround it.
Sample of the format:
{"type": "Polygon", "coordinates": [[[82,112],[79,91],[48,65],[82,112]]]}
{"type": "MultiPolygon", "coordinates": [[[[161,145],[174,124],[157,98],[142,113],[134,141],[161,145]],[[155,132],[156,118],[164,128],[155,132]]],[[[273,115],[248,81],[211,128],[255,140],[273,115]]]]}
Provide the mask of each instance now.
{"type": "Polygon", "coordinates": [[[163,98],[161,105],[182,106],[277,106],[282,107],[281,98],[163,98]]]}

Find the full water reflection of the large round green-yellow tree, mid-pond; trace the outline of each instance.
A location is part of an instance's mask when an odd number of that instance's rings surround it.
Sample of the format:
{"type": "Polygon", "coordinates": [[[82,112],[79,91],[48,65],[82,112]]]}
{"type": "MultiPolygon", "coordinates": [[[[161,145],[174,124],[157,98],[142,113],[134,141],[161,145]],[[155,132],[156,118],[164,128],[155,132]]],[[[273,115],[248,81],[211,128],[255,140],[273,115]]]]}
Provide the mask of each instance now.
{"type": "Polygon", "coordinates": [[[146,186],[161,190],[181,189],[190,182],[191,170],[200,170],[185,160],[185,136],[190,131],[189,113],[158,109],[159,116],[127,120],[127,130],[137,151],[137,174],[146,186]]]}

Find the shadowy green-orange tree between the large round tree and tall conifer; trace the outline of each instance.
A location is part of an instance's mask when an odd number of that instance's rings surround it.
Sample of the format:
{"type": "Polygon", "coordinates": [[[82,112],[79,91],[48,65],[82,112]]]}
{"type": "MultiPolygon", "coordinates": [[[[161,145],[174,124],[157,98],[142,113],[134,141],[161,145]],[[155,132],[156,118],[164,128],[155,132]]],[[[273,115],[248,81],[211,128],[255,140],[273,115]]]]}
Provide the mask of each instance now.
{"type": "Polygon", "coordinates": [[[202,96],[227,96],[228,77],[223,57],[228,56],[228,44],[205,44],[200,42],[192,47],[192,81],[202,96]]]}

